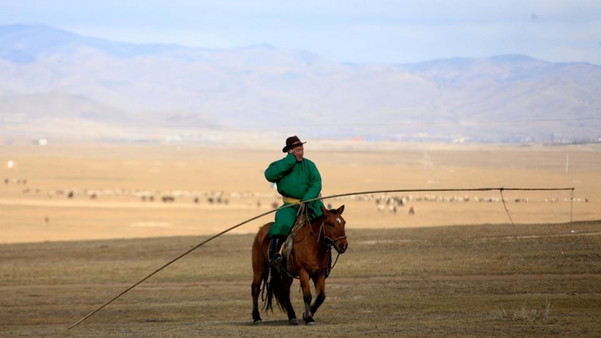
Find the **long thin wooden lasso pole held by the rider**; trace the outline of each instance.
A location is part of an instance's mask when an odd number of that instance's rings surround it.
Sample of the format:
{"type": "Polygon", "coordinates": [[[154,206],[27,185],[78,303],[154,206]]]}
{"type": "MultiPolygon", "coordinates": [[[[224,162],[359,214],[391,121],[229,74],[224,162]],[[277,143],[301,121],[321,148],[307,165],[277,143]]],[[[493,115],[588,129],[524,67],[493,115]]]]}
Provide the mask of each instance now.
{"type": "MultiPolygon", "coordinates": [[[[491,190],[499,190],[499,191],[503,191],[503,190],[525,190],[525,191],[544,191],[544,190],[571,190],[572,191],[572,199],[573,199],[573,192],[574,192],[575,188],[461,188],[461,189],[392,189],[392,190],[370,190],[370,191],[362,191],[362,192],[348,192],[345,194],[338,194],[338,195],[330,195],[330,196],[326,196],[326,197],[317,197],[315,199],[307,199],[304,201],[300,201],[301,203],[307,203],[307,202],[312,202],[312,201],[317,201],[319,199],[332,199],[332,198],[337,198],[337,197],[346,197],[346,196],[353,196],[353,195],[374,195],[374,194],[385,194],[385,193],[390,193],[390,192],[450,192],[450,191],[491,191],[491,190]]],[[[86,315],[85,317],[83,317],[82,319],[79,319],[78,321],[75,322],[75,324],[71,325],[68,327],[68,329],[72,329],[75,328],[75,326],[79,325],[82,321],[88,319],[89,317],[92,317],[96,312],[98,312],[99,310],[102,310],[105,306],[108,306],[108,304],[113,303],[113,301],[115,301],[117,298],[121,297],[122,295],[125,295],[126,292],[128,292],[129,290],[135,288],[136,286],[142,284],[142,282],[146,281],[146,279],[149,279],[150,277],[153,277],[154,275],[156,275],[158,272],[160,272],[160,270],[163,270],[164,268],[166,268],[167,266],[170,266],[171,264],[173,264],[175,261],[178,261],[178,259],[188,255],[190,252],[200,248],[200,246],[203,246],[204,244],[208,243],[209,241],[212,241],[213,239],[216,239],[217,237],[220,237],[221,235],[224,235],[225,233],[238,228],[239,226],[242,226],[246,223],[249,223],[250,221],[254,221],[255,219],[258,219],[260,217],[263,217],[265,215],[269,215],[272,212],[276,212],[280,209],[284,209],[284,208],[289,208],[291,206],[294,206],[295,204],[287,204],[284,206],[280,206],[280,208],[276,208],[273,210],[269,210],[267,212],[263,212],[260,215],[257,215],[255,217],[252,217],[250,219],[247,219],[246,221],[242,221],[238,224],[236,224],[235,226],[231,226],[230,228],[227,228],[225,230],[223,230],[222,232],[219,232],[217,235],[213,235],[212,237],[209,237],[208,239],[205,239],[204,241],[198,243],[197,245],[193,246],[193,248],[187,250],[186,252],[182,253],[182,255],[179,255],[178,257],[175,257],[174,259],[171,259],[171,261],[168,261],[166,264],[164,264],[163,266],[161,266],[160,268],[154,270],[153,272],[151,272],[149,275],[147,275],[146,277],[140,279],[140,281],[137,281],[135,284],[133,284],[132,286],[130,286],[129,288],[126,288],[125,290],[123,290],[119,295],[116,295],[115,297],[113,297],[111,300],[107,301],[106,303],[102,304],[102,306],[99,306],[99,308],[97,308],[96,310],[93,310],[92,312],[88,313],[88,315],[86,315]]],[[[570,211],[571,212],[571,211],[570,211]]],[[[510,217],[511,219],[511,217],[510,217]]],[[[570,221],[571,221],[572,217],[570,215],[570,221]]],[[[513,219],[511,220],[511,222],[513,223],[513,219]]]]}

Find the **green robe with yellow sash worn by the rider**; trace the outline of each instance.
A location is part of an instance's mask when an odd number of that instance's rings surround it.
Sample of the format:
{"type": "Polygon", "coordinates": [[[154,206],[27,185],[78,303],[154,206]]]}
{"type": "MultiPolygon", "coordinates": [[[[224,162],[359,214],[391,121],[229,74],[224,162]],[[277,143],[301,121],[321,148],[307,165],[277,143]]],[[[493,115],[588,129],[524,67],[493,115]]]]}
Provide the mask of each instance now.
{"type": "MultiPolygon", "coordinates": [[[[321,175],[313,161],[304,159],[296,161],[293,154],[288,154],[283,159],[269,164],[265,170],[265,178],[271,183],[276,183],[278,192],[285,197],[293,199],[314,199],[321,193],[321,175]]],[[[284,203],[287,205],[289,203],[284,203]]],[[[307,203],[309,216],[312,219],[323,215],[321,199],[307,203]]],[[[296,221],[296,212],[300,206],[276,211],[276,221],[267,232],[269,238],[274,235],[287,236],[296,221]]]]}

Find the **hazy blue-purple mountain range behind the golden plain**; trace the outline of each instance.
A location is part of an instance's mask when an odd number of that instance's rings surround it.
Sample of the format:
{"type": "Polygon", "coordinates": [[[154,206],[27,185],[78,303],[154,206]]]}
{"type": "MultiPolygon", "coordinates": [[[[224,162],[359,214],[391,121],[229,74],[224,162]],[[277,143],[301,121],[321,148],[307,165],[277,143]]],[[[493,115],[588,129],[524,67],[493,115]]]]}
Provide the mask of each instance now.
{"type": "Polygon", "coordinates": [[[401,141],[601,137],[601,67],[526,55],[349,64],[272,46],[122,43],[0,26],[0,138],[401,141]]]}

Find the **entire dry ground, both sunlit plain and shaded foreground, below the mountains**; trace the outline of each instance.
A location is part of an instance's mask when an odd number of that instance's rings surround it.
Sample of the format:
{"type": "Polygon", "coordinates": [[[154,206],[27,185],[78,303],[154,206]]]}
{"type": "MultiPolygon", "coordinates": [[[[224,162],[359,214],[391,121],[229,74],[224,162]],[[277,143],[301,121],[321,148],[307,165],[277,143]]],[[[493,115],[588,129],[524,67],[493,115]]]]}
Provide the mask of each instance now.
{"type": "Polygon", "coordinates": [[[67,329],[207,236],[269,212],[279,201],[263,170],[275,148],[2,146],[0,336],[601,335],[598,147],[318,141],[305,155],[323,195],[574,187],[575,199],[504,191],[515,224],[498,191],[327,200],[346,206],[350,248],[311,327],[278,312],[251,325],[251,234],[267,215],[67,329]],[[405,203],[394,212],[389,197],[405,203]]]}

